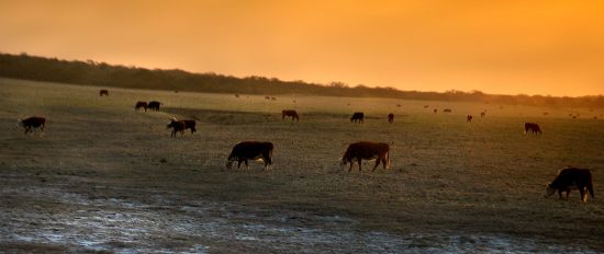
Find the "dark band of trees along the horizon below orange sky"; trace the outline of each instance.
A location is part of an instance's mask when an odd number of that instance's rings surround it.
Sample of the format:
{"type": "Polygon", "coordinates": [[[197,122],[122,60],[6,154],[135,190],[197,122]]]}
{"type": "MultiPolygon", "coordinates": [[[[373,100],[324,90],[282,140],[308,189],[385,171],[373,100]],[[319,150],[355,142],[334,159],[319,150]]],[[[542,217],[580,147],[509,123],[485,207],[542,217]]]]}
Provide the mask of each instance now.
{"type": "Polygon", "coordinates": [[[500,104],[548,105],[566,107],[604,107],[604,96],[555,97],[541,95],[493,95],[480,91],[420,92],[393,88],[348,86],[342,82],[329,84],[304,81],[282,81],[276,78],[208,73],[183,70],[145,69],[115,66],[105,62],[67,61],[57,58],[29,56],[26,54],[0,54],[0,77],[51,81],[71,84],[193,91],[205,93],[239,94],[314,94],[351,97],[390,97],[429,101],[468,101],[500,104]]]}

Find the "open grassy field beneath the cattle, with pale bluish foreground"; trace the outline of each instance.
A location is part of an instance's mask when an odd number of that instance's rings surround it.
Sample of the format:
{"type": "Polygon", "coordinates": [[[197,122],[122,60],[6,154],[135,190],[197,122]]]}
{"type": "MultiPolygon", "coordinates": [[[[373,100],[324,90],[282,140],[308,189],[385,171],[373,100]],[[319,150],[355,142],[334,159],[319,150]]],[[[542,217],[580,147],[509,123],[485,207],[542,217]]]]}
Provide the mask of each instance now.
{"type": "Polygon", "coordinates": [[[0,251],[604,252],[603,108],[98,92],[0,79],[0,251]],[[152,100],[160,112],[134,111],[152,100]],[[43,137],[15,127],[31,115],[43,137]],[[172,115],[198,132],[170,138],[172,115]],[[272,141],[273,166],[226,171],[243,140],[272,141]],[[340,170],[359,140],[389,142],[391,169],[340,170]],[[568,165],[592,170],[595,199],[544,198],[568,165]]]}

